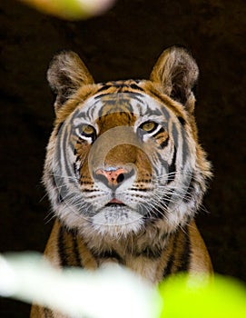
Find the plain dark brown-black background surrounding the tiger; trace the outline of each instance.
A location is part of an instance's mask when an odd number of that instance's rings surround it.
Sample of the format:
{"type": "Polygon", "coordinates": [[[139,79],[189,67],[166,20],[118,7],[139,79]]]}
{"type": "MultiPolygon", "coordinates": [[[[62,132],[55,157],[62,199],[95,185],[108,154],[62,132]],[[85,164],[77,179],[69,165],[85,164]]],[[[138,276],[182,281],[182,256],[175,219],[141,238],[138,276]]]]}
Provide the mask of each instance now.
{"type": "MultiPolygon", "coordinates": [[[[54,119],[46,84],[54,53],[73,49],[96,81],[147,78],[162,50],[185,45],[200,66],[196,117],[214,179],[197,216],[214,270],[246,281],[244,0],[119,0],[67,22],[0,3],[0,251],[43,251],[51,230],[40,182],[54,119]]],[[[29,306],[0,299],[1,317],[29,306]]]]}

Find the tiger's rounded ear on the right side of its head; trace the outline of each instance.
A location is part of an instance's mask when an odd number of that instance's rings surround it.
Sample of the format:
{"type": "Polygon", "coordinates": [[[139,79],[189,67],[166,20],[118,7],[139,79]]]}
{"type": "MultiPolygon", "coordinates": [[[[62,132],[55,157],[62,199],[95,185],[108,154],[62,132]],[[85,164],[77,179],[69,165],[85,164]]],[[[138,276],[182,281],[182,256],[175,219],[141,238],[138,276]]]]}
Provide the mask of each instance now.
{"type": "Polygon", "coordinates": [[[197,81],[199,69],[186,49],[171,46],[159,57],[153,67],[151,81],[161,84],[164,94],[185,105],[189,112],[194,108],[192,88],[197,81]]]}

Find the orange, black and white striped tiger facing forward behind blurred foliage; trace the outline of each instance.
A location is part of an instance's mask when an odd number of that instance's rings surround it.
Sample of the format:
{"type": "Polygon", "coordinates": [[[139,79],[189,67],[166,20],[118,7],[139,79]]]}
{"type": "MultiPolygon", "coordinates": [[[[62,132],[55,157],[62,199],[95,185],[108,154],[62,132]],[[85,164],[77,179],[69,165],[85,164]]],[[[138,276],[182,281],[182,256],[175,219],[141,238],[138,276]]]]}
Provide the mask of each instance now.
{"type": "MultiPolygon", "coordinates": [[[[153,285],[212,273],[194,218],[212,177],[194,117],[199,68],[165,49],[148,80],[95,84],[73,51],[54,55],[54,130],[44,186],[54,227],[44,256],[56,268],[113,263],[153,285]]],[[[64,317],[33,305],[31,317],[64,317]]]]}

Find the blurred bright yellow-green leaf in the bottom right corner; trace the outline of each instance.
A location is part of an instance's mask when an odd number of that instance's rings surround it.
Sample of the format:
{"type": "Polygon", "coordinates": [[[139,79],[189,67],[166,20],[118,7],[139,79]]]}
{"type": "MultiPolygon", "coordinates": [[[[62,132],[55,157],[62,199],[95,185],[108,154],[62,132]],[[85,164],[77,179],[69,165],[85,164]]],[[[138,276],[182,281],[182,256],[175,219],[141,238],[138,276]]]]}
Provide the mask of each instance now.
{"type": "Polygon", "coordinates": [[[246,317],[246,288],[229,277],[179,275],[162,283],[159,292],[161,318],[246,317]]]}

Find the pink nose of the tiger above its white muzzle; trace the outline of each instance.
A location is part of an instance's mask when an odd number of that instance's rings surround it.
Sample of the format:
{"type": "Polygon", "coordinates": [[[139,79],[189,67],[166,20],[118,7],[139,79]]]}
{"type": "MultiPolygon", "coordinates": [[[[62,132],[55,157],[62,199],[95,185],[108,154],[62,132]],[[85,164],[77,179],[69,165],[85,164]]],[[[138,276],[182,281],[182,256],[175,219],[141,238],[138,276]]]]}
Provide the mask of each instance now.
{"type": "Polygon", "coordinates": [[[128,172],[124,168],[110,167],[107,169],[97,169],[94,177],[107,186],[115,187],[122,184],[124,180],[128,179],[132,175],[133,174],[131,172],[128,172]]]}

